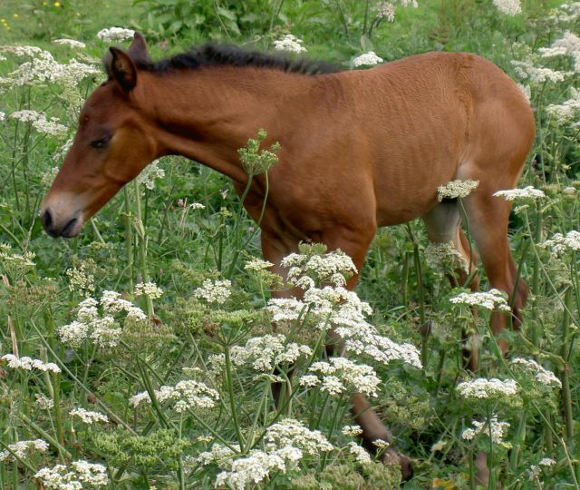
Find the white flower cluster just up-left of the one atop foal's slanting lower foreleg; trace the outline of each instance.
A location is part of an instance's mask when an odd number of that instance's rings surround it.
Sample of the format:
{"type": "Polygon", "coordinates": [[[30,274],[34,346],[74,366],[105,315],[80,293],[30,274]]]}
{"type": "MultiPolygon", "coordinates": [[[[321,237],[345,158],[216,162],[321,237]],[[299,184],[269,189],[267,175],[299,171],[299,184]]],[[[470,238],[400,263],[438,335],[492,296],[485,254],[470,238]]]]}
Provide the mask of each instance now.
{"type": "Polygon", "coordinates": [[[250,364],[256,371],[267,373],[280,364],[292,364],[302,356],[312,356],[312,348],[286,342],[282,334],[265,335],[250,338],[244,347],[232,347],[230,355],[236,366],[250,364]]]}

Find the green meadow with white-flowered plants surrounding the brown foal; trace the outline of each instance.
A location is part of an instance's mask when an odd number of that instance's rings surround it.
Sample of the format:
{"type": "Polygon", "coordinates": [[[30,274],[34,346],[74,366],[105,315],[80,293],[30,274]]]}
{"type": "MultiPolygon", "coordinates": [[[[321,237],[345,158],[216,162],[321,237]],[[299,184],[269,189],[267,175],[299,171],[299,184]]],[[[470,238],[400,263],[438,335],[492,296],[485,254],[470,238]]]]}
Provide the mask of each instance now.
{"type": "MultiPolygon", "coordinates": [[[[580,488],[580,2],[97,4],[0,4],[0,487],[464,489],[484,455],[488,488],[580,488]],[[271,299],[286,286],[231,182],[183,158],[151,164],[79,237],[48,237],[43,194],[102,55],[128,46],[113,26],[145,34],[154,58],[210,40],[345,70],[432,50],[502,67],[537,124],[520,189],[496,198],[514,203],[510,246],[531,289],[521,330],[501,334],[507,357],[489,317],[512,298],[481,267],[484,293],[451,288],[458,258],[419,222],[380,231],[356,293],[347,256],[304,245],[285,260],[304,299],[271,299]],[[326,357],[331,326],[344,358],[326,357]],[[382,464],[388,445],[360,445],[354,391],[412,458],[409,481],[382,464]]],[[[249,136],[247,169],[277,164],[249,136]]]]}

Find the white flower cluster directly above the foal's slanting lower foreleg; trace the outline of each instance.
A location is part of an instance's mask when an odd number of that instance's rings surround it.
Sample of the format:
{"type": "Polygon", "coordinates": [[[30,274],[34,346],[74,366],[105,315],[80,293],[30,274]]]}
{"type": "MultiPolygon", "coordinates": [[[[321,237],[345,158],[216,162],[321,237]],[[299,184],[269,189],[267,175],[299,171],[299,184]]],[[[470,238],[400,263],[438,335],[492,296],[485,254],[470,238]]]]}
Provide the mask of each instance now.
{"type": "Polygon", "coordinates": [[[346,358],[330,358],[328,362],[314,362],[308,369],[310,373],[300,378],[306,387],[320,387],[329,395],[356,391],[369,397],[376,397],[381,380],[370,366],[355,364],[346,358]]]}

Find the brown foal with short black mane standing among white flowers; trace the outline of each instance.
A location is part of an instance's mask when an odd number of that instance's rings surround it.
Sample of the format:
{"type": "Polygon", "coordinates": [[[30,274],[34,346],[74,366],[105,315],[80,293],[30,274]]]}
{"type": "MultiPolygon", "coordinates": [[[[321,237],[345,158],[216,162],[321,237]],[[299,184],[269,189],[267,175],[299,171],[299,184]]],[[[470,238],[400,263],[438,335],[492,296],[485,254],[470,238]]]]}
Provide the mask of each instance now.
{"type": "MultiPolygon", "coordinates": [[[[248,177],[237,149],[265,128],[266,144],[281,143],[260,223],[264,257],[275,269],[310,240],[345,251],[360,270],[377,227],[416,218],[431,241],[453,241],[473,264],[458,203],[437,200],[438,186],[470,179],[479,185],[463,204],[489,283],[514,293],[516,316],[524,306],[527,288],[517,282],[507,244],[510,205],[492,194],[516,186],[535,123],[516,83],[496,65],[473,54],[430,53],[328,73],[312,62],[213,45],[153,63],[136,34],[127,53],[111,48],[105,67],[109,78],[85,103],[43,201],[51,235],[79,233],[163,155],[208,165],[242,190],[248,177]]],[[[264,189],[258,176],[244,202],[255,220],[264,189]]],[[[506,325],[494,314],[494,332],[506,325]]],[[[353,413],[365,441],[391,439],[360,395],[353,413]]]]}

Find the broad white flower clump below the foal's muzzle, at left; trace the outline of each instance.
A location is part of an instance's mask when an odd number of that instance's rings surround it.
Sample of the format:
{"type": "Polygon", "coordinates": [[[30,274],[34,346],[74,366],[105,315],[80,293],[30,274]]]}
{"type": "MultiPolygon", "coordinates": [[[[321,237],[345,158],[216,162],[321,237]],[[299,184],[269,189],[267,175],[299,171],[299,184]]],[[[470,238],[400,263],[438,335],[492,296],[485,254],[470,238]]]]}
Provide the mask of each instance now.
{"type": "Polygon", "coordinates": [[[121,327],[114,315],[125,313],[125,321],[140,323],[147,320],[142,309],[116,291],[103,291],[100,301],[87,298],[79,303],[76,320],[58,328],[59,338],[72,348],[79,348],[90,338],[100,348],[113,348],[119,343],[121,327]],[[101,306],[102,314],[99,313],[101,306]]]}

